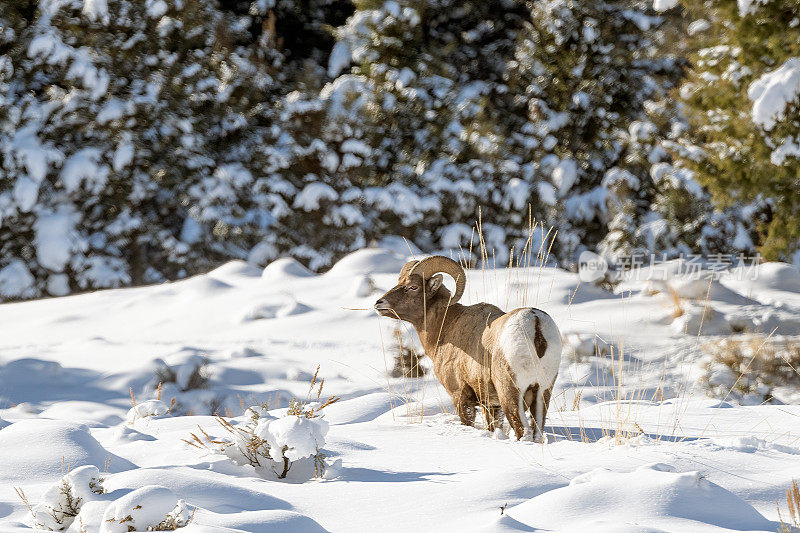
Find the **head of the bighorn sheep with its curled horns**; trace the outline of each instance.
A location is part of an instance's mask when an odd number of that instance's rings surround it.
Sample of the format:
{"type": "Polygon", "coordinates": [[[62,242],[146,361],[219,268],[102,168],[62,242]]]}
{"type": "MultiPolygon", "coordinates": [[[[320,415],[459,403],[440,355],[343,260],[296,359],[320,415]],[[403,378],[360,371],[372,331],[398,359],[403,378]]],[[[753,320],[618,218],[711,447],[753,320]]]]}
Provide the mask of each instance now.
{"type": "Polygon", "coordinates": [[[421,322],[427,309],[438,302],[445,305],[457,302],[464,294],[465,285],[464,269],[448,257],[435,255],[422,261],[410,261],[400,271],[397,286],[375,302],[375,310],[382,316],[421,322]],[[442,283],[440,272],[448,274],[456,282],[452,298],[442,283]]]}

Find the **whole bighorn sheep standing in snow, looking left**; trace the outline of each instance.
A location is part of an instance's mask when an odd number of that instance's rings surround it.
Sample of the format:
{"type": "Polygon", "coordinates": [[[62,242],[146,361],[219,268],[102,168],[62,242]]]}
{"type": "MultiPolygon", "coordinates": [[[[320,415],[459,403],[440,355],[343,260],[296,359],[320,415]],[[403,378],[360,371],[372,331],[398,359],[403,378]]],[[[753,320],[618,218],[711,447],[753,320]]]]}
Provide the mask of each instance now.
{"type": "Polygon", "coordinates": [[[411,261],[375,309],[414,326],[462,424],[474,424],[480,405],[493,431],[502,409],[517,439],[538,442],[561,361],[558,327],[547,313],[531,307],[504,313],[488,303],[461,305],[465,286],[464,270],[452,259],[411,261]],[[440,273],[455,280],[452,297],[440,273]]]}

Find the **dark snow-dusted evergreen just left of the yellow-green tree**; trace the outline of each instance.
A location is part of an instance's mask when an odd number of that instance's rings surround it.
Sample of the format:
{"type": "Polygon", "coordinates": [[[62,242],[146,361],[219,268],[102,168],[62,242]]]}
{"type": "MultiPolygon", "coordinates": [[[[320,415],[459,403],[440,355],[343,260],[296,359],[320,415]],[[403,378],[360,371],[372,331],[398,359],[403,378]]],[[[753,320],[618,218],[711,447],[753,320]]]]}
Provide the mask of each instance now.
{"type": "Polygon", "coordinates": [[[675,58],[658,55],[663,18],[627,1],[529,5],[509,79],[527,105],[529,157],[547,191],[545,220],[558,228],[556,252],[574,261],[610,230],[605,248],[628,253],[653,193],[650,154],[636,155],[654,135],[645,103],[680,73],[675,58]]]}

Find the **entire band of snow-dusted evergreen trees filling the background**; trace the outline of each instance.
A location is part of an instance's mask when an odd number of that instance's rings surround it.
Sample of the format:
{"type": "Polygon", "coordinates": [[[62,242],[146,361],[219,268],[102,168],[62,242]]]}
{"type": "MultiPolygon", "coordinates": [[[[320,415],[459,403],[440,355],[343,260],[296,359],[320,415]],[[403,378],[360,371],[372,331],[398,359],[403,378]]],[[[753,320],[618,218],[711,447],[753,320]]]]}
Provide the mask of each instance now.
{"type": "Polygon", "coordinates": [[[502,265],[529,214],[567,264],[789,257],[797,6],[686,6],[9,0],[0,298],[320,270],[390,234],[502,265]]]}

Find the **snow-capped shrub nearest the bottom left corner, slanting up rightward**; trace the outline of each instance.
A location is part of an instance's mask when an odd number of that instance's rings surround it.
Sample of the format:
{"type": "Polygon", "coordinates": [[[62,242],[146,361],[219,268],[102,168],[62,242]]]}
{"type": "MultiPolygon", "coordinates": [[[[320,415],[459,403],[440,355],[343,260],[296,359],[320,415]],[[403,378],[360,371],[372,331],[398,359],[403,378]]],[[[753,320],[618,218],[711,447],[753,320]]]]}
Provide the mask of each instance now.
{"type": "Polygon", "coordinates": [[[30,509],[32,525],[50,531],[65,530],[84,503],[104,492],[103,478],[96,466],[76,468],[47,489],[42,501],[30,509]]]}

